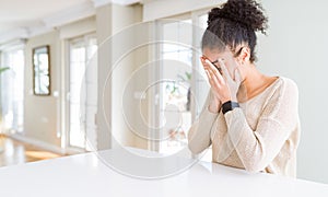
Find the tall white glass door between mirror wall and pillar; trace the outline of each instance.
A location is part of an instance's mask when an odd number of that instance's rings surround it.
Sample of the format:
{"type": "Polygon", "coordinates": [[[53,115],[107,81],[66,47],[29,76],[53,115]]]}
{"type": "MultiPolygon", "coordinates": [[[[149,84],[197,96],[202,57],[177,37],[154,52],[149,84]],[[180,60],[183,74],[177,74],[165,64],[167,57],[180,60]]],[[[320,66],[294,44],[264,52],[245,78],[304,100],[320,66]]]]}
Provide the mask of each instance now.
{"type": "MultiPolygon", "coordinates": [[[[95,35],[71,39],[69,48],[69,146],[91,150],[87,140],[95,140],[97,111],[97,70],[93,58],[97,50],[95,35]]],[[[90,142],[94,144],[94,141],[90,142]]]]}

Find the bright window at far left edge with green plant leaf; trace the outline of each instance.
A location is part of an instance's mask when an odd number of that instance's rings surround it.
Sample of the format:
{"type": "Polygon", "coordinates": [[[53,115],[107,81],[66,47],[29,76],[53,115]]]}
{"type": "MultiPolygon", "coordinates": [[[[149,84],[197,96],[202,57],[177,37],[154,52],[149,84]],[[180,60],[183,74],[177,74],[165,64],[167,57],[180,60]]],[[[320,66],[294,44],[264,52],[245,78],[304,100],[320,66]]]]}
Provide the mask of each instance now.
{"type": "Polygon", "coordinates": [[[2,128],[23,132],[24,118],[24,50],[23,46],[11,46],[1,51],[1,68],[10,69],[1,73],[2,128]]]}

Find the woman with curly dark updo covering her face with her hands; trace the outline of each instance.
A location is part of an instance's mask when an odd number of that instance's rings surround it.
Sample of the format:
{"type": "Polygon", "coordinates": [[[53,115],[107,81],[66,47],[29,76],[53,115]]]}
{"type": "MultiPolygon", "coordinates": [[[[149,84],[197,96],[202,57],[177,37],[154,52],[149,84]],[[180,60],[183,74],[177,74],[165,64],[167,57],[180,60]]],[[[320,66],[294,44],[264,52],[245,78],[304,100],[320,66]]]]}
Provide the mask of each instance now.
{"type": "Polygon", "coordinates": [[[211,91],[188,146],[198,154],[212,144],[212,160],[220,164],[294,177],[297,86],[255,66],[255,33],[266,33],[267,21],[254,0],[229,0],[210,11],[201,62],[211,91]]]}

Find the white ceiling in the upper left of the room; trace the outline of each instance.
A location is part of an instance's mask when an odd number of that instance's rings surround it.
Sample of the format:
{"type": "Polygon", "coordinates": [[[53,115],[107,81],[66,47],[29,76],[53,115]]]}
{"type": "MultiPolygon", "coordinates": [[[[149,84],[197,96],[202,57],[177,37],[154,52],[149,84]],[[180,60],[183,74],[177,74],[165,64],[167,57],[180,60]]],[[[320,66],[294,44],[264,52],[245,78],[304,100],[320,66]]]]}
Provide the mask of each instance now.
{"type": "MultiPolygon", "coordinates": [[[[0,0],[0,43],[12,34],[31,36],[31,32],[58,25],[62,15],[69,18],[87,16],[94,8],[108,2],[131,4],[139,0],[0,0]],[[55,22],[54,22],[55,21],[55,22]],[[52,24],[49,24],[51,23],[52,24]]],[[[40,31],[38,31],[40,32],[40,31]]],[[[22,36],[24,37],[24,36],[22,36]]]]}

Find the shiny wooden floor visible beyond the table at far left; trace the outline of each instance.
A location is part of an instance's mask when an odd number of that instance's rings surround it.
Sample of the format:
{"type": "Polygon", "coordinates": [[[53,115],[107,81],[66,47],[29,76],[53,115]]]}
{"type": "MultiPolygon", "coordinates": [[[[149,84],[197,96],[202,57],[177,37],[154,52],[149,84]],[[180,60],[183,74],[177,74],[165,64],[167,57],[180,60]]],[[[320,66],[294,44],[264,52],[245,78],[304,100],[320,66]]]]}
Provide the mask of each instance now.
{"type": "Polygon", "coordinates": [[[61,155],[0,135],[0,166],[35,162],[59,157],[61,155]]]}

